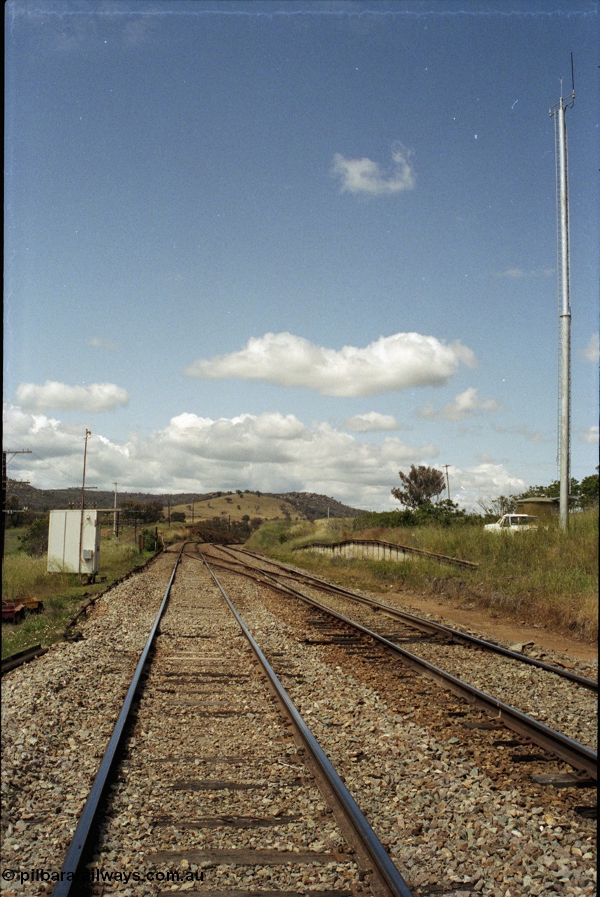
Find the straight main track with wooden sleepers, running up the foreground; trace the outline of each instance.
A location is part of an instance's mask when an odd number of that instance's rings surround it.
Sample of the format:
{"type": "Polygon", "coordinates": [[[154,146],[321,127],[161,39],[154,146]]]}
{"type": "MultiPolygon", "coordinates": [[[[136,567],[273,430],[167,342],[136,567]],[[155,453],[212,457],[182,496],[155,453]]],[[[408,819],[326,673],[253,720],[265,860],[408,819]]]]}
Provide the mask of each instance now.
{"type": "Polygon", "coordinates": [[[290,886],[320,897],[413,893],[218,579],[187,562],[185,552],[100,763],[56,897],[82,893],[85,881],[90,893],[112,893],[101,873],[116,845],[122,875],[139,888],[134,893],[173,893],[178,882],[187,888],[176,893],[186,893],[207,879],[209,893],[231,895],[248,893],[248,882],[267,884],[262,893],[272,895],[290,893],[290,886]],[[137,824],[127,832],[132,801],[137,824]],[[140,885],[133,876],[142,868],[140,885]]]}

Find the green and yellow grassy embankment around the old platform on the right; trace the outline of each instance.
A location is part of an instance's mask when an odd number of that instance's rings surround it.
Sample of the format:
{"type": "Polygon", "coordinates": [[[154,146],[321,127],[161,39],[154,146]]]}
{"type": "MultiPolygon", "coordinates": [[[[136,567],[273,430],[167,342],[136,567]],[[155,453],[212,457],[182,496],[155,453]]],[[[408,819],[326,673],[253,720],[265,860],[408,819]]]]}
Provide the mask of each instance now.
{"type": "MultiPolygon", "coordinates": [[[[360,518],[358,518],[360,519],[360,518]]],[[[414,518],[412,518],[414,521],[414,518]]],[[[372,516],[371,516],[372,522],[372,516]]],[[[459,518],[456,525],[427,522],[409,527],[354,529],[355,521],[336,521],[335,529],[306,528],[277,522],[261,527],[248,547],[335,579],[343,585],[388,591],[390,587],[448,596],[488,608],[507,619],[535,623],[579,639],[597,638],[598,512],[572,514],[567,533],[539,527],[516,535],[483,531],[483,518],[459,518]],[[344,528],[345,527],[345,528],[344,528]],[[472,561],[475,570],[431,559],[404,562],[361,561],[297,553],[311,541],[379,539],[472,561]]]]}

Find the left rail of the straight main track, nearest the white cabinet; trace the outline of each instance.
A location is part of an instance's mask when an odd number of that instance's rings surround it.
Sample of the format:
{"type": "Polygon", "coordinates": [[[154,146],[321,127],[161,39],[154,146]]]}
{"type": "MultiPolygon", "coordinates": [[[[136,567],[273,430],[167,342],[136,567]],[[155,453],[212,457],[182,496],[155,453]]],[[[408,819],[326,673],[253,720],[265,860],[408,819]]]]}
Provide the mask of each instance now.
{"type": "Polygon", "coordinates": [[[81,893],[80,887],[84,881],[87,881],[87,879],[83,875],[83,859],[85,857],[85,850],[88,846],[88,841],[90,840],[90,835],[94,824],[97,821],[100,800],[102,799],[102,797],[104,797],[109,783],[109,776],[115,767],[118,750],[123,743],[126,724],[131,713],[135,694],[140,685],[143,667],[145,666],[148,655],[150,654],[150,651],[152,649],[152,644],[154,642],[156,632],[158,631],[159,624],[161,623],[161,617],[164,614],[169,602],[170,588],[173,585],[173,580],[175,579],[175,573],[178,569],[179,562],[181,561],[182,553],[183,547],[178,553],[178,559],[175,562],[175,566],[173,567],[173,571],[170,575],[169,585],[167,586],[167,589],[164,593],[161,601],[161,606],[158,613],[156,614],[154,623],[152,623],[152,629],[150,631],[150,634],[148,635],[148,639],[146,640],[142,654],[140,655],[140,659],[137,662],[137,666],[135,667],[134,677],[131,680],[129,689],[127,690],[125,701],[123,701],[123,706],[121,707],[117,722],[115,723],[115,727],[112,731],[112,735],[110,736],[109,745],[107,746],[107,749],[104,752],[104,755],[100,762],[100,767],[98,768],[98,772],[96,773],[96,778],[93,780],[90,794],[88,795],[88,798],[85,802],[85,806],[83,806],[82,814],[79,817],[79,822],[77,823],[77,827],[75,828],[74,836],[71,840],[71,845],[67,850],[65,861],[60,871],[60,880],[55,885],[55,888],[52,892],[52,897],[67,897],[67,895],[68,897],[70,897],[71,894],[81,893]]]}

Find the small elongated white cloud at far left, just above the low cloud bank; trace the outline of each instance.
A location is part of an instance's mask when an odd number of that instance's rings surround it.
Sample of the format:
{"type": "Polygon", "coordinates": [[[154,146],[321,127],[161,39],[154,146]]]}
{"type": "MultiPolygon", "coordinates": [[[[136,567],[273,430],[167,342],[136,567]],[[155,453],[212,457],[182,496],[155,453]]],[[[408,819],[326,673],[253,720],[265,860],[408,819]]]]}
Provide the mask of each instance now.
{"type": "Polygon", "coordinates": [[[16,401],[28,411],[112,411],[117,405],[128,405],[125,389],[114,383],[90,383],[88,386],[69,386],[57,380],[37,383],[20,383],[15,392],[16,401]]]}

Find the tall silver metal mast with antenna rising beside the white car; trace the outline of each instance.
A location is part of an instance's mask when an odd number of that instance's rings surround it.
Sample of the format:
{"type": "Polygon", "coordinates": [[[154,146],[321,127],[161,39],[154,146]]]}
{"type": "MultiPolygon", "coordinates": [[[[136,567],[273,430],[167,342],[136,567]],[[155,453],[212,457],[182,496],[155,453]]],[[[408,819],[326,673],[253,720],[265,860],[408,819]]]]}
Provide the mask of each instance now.
{"type": "MultiPolygon", "coordinates": [[[[573,57],[571,55],[570,97],[561,99],[550,109],[554,118],[554,142],[556,152],[557,224],[561,237],[558,255],[559,269],[559,320],[561,329],[560,355],[560,457],[561,499],[559,523],[566,532],[569,527],[570,492],[570,295],[569,295],[569,179],[567,159],[567,127],[565,111],[575,102],[573,57]]],[[[561,83],[562,94],[562,83],[561,83]]]]}

